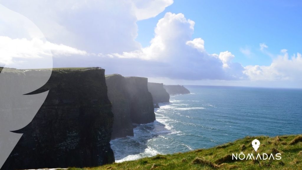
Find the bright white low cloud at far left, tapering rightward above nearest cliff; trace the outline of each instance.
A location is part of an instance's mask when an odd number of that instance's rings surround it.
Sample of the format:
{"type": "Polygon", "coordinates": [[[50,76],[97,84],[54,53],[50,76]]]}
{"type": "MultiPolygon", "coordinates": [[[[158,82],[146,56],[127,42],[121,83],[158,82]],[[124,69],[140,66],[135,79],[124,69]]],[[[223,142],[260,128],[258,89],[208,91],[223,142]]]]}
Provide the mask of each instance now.
{"type": "Polygon", "coordinates": [[[0,36],[0,63],[5,67],[51,68],[53,56],[86,54],[85,51],[38,38],[28,40],[0,36]]]}

